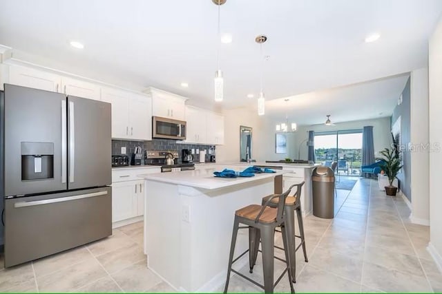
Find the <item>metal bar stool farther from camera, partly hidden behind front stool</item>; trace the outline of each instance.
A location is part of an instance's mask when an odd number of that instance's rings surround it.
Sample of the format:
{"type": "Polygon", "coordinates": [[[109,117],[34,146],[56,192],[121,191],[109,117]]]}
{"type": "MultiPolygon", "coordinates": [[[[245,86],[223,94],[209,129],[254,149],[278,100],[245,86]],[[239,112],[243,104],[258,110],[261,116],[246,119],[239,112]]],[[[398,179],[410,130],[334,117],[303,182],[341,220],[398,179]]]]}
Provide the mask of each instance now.
{"type": "MultiPolygon", "coordinates": [[[[290,187],[291,189],[292,187],[296,186],[296,193],[294,194],[294,196],[287,196],[287,198],[285,199],[285,207],[284,207],[285,217],[286,217],[284,225],[287,231],[287,244],[289,248],[288,255],[291,265],[291,274],[292,274],[291,277],[294,283],[296,283],[296,251],[298,251],[300,246],[302,246],[302,251],[304,251],[305,262],[309,262],[307,258],[307,251],[305,250],[304,224],[302,222],[302,213],[301,213],[300,196],[301,196],[302,185],[304,185],[304,182],[300,182],[299,184],[295,184],[290,187]],[[299,226],[300,235],[296,235],[295,233],[295,211],[296,211],[296,216],[298,217],[298,226],[299,226]],[[301,243],[298,246],[296,246],[295,242],[296,237],[300,238],[301,240],[301,243]]],[[[269,207],[277,207],[278,202],[276,202],[275,200],[276,199],[273,194],[266,196],[265,198],[262,198],[262,203],[269,202],[269,204],[267,204],[269,207]]],[[[281,229],[281,231],[283,230],[281,229]]],[[[281,248],[279,246],[275,247],[281,250],[287,248],[285,244],[284,248],[281,248]]],[[[253,247],[251,250],[253,250],[251,255],[253,255],[254,259],[250,260],[250,272],[253,271],[253,265],[256,262],[258,247],[253,247]]]]}

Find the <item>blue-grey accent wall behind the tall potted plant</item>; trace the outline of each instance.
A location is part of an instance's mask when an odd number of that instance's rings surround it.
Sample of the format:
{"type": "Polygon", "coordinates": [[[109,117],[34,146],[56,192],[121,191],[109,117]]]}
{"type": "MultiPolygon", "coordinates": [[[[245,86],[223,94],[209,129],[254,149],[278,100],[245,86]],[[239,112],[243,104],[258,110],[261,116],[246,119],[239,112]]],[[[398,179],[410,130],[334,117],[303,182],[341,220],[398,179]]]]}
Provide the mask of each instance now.
{"type": "Polygon", "coordinates": [[[403,160],[403,168],[400,174],[398,174],[399,189],[403,191],[408,200],[412,200],[411,174],[412,174],[412,159],[410,150],[407,145],[410,143],[410,78],[402,91],[402,103],[394,107],[392,115],[392,126],[401,116],[401,146],[403,151],[401,152],[403,160]]]}

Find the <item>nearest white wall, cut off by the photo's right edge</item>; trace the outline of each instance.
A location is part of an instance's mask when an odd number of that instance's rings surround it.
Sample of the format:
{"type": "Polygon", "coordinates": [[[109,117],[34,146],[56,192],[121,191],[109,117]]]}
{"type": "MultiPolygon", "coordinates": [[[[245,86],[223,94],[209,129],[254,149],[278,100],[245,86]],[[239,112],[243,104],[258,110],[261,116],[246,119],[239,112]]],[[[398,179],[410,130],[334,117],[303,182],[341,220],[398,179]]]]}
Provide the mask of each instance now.
{"type": "MultiPolygon", "coordinates": [[[[430,144],[442,143],[442,20],[436,25],[429,43],[430,144]]],[[[428,248],[442,269],[442,152],[430,152],[430,244],[428,248]]]]}

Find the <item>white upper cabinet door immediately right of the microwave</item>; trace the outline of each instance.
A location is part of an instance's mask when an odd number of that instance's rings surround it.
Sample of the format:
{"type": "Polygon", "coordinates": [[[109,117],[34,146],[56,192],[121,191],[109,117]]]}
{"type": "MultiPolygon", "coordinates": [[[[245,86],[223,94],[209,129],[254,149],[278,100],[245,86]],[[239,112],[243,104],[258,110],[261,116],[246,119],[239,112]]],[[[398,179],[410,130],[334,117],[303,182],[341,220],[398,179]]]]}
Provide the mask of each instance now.
{"type": "Polygon", "coordinates": [[[206,143],[207,124],[204,109],[186,106],[186,142],[206,143]]]}

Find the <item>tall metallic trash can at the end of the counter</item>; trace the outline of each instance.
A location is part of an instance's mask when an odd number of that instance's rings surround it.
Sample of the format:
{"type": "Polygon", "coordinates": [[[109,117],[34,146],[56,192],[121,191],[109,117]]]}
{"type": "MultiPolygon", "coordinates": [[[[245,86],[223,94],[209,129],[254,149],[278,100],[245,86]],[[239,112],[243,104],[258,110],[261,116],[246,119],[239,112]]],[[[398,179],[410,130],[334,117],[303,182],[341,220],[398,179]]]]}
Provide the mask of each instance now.
{"type": "Polygon", "coordinates": [[[311,172],[313,215],[318,218],[334,218],[334,172],[320,165],[311,172]]]}

